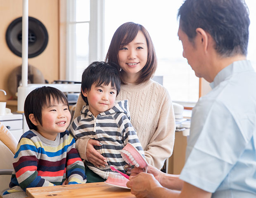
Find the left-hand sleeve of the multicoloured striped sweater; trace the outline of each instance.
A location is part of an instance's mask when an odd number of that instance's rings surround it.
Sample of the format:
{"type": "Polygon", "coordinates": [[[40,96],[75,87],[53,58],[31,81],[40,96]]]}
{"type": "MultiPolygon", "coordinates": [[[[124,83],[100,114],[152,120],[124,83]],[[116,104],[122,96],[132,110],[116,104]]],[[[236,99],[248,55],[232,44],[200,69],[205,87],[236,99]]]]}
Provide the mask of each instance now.
{"type": "Polygon", "coordinates": [[[39,186],[54,186],[51,182],[38,176],[38,150],[31,139],[21,138],[14,156],[14,171],[21,189],[39,186]]]}

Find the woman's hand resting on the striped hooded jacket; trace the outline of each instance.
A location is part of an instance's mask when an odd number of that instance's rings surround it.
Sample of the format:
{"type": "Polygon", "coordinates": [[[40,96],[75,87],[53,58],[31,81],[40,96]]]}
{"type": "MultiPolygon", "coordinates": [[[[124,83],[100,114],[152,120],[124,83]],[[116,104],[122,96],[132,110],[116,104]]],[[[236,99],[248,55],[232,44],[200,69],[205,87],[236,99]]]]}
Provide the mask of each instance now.
{"type": "Polygon", "coordinates": [[[86,157],[88,161],[96,167],[105,167],[106,165],[108,165],[107,159],[104,158],[99,152],[97,152],[93,146],[102,146],[102,143],[95,139],[90,139],[88,141],[86,146],[86,157]]]}

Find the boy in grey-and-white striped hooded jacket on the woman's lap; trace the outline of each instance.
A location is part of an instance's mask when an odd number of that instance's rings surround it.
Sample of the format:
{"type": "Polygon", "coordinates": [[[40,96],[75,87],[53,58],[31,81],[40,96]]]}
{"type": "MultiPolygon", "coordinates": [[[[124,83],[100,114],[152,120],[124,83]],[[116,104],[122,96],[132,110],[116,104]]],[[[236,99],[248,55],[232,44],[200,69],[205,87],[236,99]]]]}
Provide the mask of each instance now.
{"type": "Polygon", "coordinates": [[[83,106],[81,115],[73,120],[69,131],[76,139],[81,158],[85,159],[87,183],[105,181],[112,172],[111,165],[126,173],[121,150],[128,142],[144,156],[130,123],[128,101],[115,101],[120,86],[119,72],[112,64],[93,62],[83,72],[81,92],[87,106],[83,106]],[[100,142],[94,148],[106,158],[105,166],[94,165],[86,158],[90,139],[100,142]]]}

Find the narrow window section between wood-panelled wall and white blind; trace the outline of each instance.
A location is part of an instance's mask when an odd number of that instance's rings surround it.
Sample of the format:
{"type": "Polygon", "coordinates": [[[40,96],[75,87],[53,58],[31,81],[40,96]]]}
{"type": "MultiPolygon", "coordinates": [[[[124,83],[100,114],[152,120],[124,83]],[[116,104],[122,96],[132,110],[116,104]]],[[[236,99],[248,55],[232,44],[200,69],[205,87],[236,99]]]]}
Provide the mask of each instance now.
{"type": "Polygon", "coordinates": [[[89,63],[89,25],[90,0],[60,1],[60,64],[66,71],[61,78],[81,81],[89,63]]]}

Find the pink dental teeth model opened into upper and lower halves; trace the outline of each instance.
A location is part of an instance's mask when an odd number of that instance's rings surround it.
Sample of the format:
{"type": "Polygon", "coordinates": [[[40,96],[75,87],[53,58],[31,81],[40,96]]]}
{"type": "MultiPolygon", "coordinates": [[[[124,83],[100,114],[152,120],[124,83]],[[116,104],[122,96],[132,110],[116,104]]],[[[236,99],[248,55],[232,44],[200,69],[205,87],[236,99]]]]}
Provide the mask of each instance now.
{"type": "MultiPolygon", "coordinates": [[[[122,158],[126,161],[126,163],[130,165],[135,165],[135,167],[140,167],[144,169],[145,172],[147,172],[148,163],[145,160],[145,158],[140,154],[140,152],[135,148],[132,144],[127,143],[125,147],[123,147],[121,151],[122,158]]],[[[128,179],[126,179],[123,175],[120,173],[114,173],[110,172],[109,177],[105,181],[106,184],[117,186],[121,188],[126,188],[128,179]]]]}

